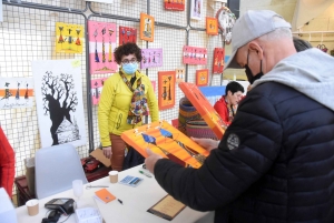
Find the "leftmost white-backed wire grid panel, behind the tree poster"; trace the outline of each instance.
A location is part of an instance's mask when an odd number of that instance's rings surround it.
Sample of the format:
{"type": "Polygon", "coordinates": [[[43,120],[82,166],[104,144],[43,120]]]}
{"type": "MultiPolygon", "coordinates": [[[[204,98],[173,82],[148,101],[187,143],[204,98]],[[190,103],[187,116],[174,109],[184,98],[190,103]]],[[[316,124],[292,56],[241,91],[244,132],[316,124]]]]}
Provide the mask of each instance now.
{"type": "MultiPolygon", "coordinates": [[[[56,53],[56,22],[85,26],[85,17],[16,6],[3,6],[3,22],[0,23],[0,68],[2,78],[32,78],[31,61],[79,59],[84,108],[87,110],[86,55],[56,53]]],[[[36,102],[33,102],[36,103],[36,102]]],[[[88,116],[85,114],[86,123],[88,116]]],[[[1,128],[16,151],[16,175],[24,174],[23,160],[35,155],[41,148],[37,108],[0,110],[1,128]]],[[[88,126],[86,124],[88,135],[88,126]]],[[[89,143],[77,148],[80,156],[87,156],[89,143]]]]}

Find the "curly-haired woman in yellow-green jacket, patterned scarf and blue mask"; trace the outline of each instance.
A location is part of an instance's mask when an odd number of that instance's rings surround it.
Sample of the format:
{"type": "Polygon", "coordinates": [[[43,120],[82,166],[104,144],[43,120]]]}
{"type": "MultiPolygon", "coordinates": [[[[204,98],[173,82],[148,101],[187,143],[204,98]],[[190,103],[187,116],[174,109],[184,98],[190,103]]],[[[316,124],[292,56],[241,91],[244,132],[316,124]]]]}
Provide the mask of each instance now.
{"type": "Polygon", "coordinates": [[[111,159],[112,170],[121,171],[126,143],[120,134],[141,125],[144,115],[159,120],[158,102],[147,75],[138,70],[141,51],[128,42],[115,50],[115,60],[120,65],[104,84],[98,110],[98,123],[104,154],[111,159]]]}

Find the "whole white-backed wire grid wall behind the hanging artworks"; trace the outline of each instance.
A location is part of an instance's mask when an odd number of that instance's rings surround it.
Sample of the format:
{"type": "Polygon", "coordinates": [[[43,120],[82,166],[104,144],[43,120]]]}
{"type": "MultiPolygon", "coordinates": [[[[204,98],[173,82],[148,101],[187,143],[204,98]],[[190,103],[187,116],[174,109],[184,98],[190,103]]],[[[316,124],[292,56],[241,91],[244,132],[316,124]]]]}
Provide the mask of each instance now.
{"type": "MultiPolygon", "coordinates": [[[[146,73],[150,80],[158,85],[158,71],[168,71],[185,68],[187,81],[195,82],[197,69],[209,70],[212,73],[213,51],[222,47],[220,36],[209,37],[205,31],[205,16],[214,17],[216,8],[213,9],[204,2],[206,14],[202,21],[189,20],[190,0],[186,1],[186,10],[166,11],[163,1],[125,1],[115,0],[114,4],[90,3],[76,0],[28,0],[22,3],[13,3],[3,0],[3,22],[0,23],[0,72],[1,77],[32,78],[31,61],[33,60],[59,60],[79,59],[82,71],[82,95],[84,108],[87,113],[86,129],[87,142],[85,146],[78,148],[81,158],[87,156],[90,150],[99,145],[99,131],[97,122],[97,105],[87,104],[90,102],[90,80],[106,78],[109,74],[87,75],[89,64],[87,63],[88,49],[84,45],[82,54],[67,54],[55,52],[55,29],[56,22],[78,23],[86,26],[85,14],[90,14],[88,20],[115,22],[118,27],[134,27],[139,32],[140,12],[146,12],[156,18],[155,41],[146,42],[137,39],[140,48],[163,48],[164,65],[150,68],[146,73]],[[89,11],[90,10],[90,11],[89,11]],[[189,22],[188,22],[189,21],[189,22]],[[189,26],[191,24],[191,26],[189,26]],[[184,45],[202,47],[208,50],[207,65],[183,64],[184,45]]],[[[220,4],[218,6],[218,8],[220,4]]],[[[88,41],[86,32],[85,41],[88,41]]],[[[137,33],[139,37],[139,33],[137,33]]],[[[145,72],[145,70],[143,70],[145,72]]],[[[220,75],[214,75],[212,84],[219,85],[220,75]]],[[[156,95],[158,94],[156,88],[156,95]]],[[[184,93],[176,88],[176,102],[173,109],[160,111],[161,120],[174,120],[178,116],[178,103],[184,93]]],[[[23,160],[35,155],[40,149],[40,136],[36,107],[31,109],[12,109],[0,111],[0,122],[10,143],[16,150],[16,175],[24,174],[23,160]]]]}

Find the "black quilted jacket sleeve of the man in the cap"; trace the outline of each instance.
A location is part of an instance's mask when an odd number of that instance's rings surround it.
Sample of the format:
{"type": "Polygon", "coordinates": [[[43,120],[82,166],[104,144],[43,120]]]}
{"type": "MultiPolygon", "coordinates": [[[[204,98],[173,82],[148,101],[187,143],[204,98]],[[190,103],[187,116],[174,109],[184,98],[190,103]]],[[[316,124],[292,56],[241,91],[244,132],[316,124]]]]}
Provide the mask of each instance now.
{"type": "Polygon", "coordinates": [[[218,149],[199,169],[161,159],[155,165],[155,178],[191,209],[224,207],[271,169],[281,150],[282,132],[275,107],[264,97],[247,97],[218,149]]]}

